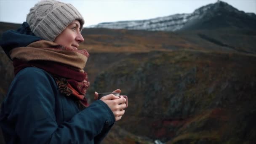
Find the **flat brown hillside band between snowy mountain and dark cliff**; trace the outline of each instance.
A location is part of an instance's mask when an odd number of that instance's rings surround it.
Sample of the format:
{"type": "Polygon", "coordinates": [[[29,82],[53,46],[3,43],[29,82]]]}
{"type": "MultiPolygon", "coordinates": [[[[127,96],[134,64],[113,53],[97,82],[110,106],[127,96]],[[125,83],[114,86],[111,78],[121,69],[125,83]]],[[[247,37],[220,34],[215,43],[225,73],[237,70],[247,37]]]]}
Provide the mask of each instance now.
{"type": "Polygon", "coordinates": [[[256,53],[256,31],[214,29],[151,32],[126,29],[83,29],[89,52],[148,52],[178,49],[256,53]]]}

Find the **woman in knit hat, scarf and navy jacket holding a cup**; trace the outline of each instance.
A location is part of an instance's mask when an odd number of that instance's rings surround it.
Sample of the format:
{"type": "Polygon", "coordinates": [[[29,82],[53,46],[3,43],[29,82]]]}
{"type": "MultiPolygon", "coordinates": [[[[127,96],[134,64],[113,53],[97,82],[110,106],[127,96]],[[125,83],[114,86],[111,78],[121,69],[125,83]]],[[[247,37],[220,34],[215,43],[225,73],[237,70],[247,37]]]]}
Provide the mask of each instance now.
{"type": "Polygon", "coordinates": [[[44,0],[30,9],[20,29],[3,34],[0,44],[15,72],[0,114],[7,144],[99,143],[121,119],[122,96],[87,103],[83,68],[89,54],[77,50],[83,24],[71,4],[44,0]]]}

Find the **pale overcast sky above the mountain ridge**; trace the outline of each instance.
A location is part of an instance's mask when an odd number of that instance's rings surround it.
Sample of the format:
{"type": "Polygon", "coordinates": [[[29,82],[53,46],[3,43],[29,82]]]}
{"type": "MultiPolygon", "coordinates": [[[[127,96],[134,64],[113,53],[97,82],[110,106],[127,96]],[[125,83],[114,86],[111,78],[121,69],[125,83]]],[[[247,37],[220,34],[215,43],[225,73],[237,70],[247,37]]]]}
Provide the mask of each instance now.
{"type": "MultiPolygon", "coordinates": [[[[0,21],[21,24],[40,0],[0,0],[0,21]]],[[[101,22],[153,19],[192,13],[217,0],[59,0],[71,3],[85,19],[84,27],[101,22]]],[[[256,0],[222,0],[246,13],[256,13],[256,0]]]]}

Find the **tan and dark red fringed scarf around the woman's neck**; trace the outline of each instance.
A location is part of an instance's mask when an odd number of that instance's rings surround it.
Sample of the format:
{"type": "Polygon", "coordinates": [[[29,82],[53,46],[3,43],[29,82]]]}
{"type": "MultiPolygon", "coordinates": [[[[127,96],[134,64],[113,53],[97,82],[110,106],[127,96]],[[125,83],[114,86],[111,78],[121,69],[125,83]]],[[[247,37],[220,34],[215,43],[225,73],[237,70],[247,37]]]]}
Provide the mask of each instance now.
{"type": "Polygon", "coordinates": [[[83,71],[89,53],[86,50],[73,50],[50,41],[40,40],[27,47],[10,51],[14,74],[26,67],[37,67],[53,75],[59,91],[78,101],[79,109],[88,107],[85,97],[88,82],[83,71]]]}

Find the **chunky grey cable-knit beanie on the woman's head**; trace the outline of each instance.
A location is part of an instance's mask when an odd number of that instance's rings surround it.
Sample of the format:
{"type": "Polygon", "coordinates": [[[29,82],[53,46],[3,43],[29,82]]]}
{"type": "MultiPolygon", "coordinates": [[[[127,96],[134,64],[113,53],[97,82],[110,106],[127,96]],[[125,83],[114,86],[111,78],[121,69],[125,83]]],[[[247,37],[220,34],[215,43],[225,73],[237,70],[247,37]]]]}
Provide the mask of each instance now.
{"type": "Polygon", "coordinates": [[[83,16],[73,5],[56,0],[42,0],[30,9],[26,21],[36,36],[54,41],[74,20],[80,21],[82,31],[83,16]]]}

